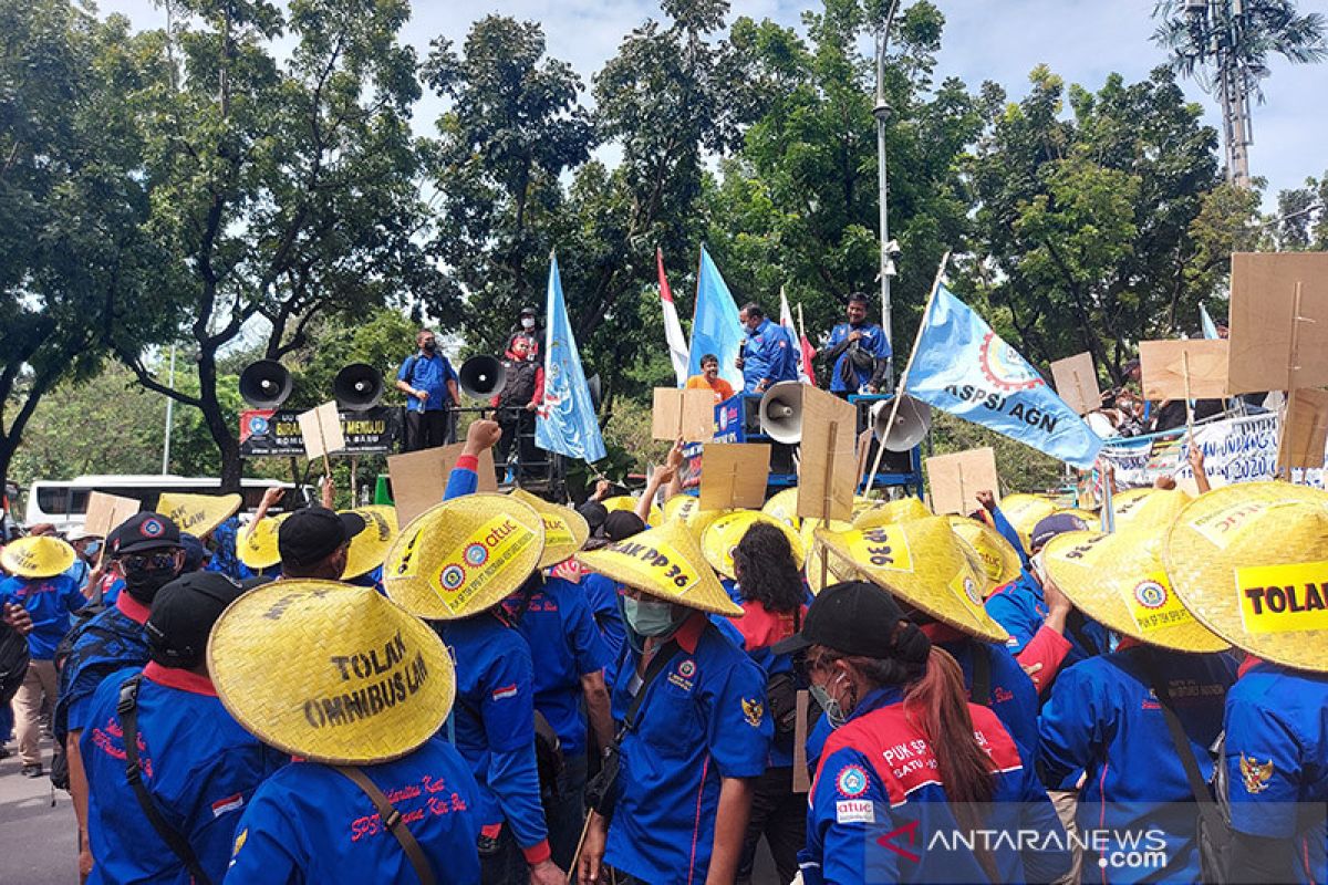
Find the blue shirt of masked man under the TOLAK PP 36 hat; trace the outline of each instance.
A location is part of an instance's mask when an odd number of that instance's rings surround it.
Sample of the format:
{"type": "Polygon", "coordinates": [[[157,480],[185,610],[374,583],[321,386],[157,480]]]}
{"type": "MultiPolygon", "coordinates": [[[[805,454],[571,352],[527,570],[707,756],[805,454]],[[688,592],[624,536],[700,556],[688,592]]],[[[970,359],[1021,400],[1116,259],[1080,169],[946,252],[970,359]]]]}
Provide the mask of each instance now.
{"type": "MultiPolygon", "coordinates": [[[[773,726],[765,675],[700,612],[675,634],[679,653],[645,687],[622,744],[620,795],[604,861],[652,885],[704,882],[721,778],[765,772],[773,726]]],[[[640,655],[624,646],[614,718],[632,703],[640,655]]]]}

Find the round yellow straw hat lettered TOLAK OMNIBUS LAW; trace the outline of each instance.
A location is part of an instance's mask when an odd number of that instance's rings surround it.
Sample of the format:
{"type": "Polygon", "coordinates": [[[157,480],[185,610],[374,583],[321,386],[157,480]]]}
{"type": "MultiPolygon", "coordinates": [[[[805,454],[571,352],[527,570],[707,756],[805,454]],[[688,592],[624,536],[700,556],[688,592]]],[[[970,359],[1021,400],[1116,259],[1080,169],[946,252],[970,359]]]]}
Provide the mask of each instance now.
{"type": "Polygon", "coordinates": [[[372,586],[290,580],[235,600],[212,628],[216,695],[267,744],[328,764],[406,755],[448,718],[442,640],[372,586]]]}

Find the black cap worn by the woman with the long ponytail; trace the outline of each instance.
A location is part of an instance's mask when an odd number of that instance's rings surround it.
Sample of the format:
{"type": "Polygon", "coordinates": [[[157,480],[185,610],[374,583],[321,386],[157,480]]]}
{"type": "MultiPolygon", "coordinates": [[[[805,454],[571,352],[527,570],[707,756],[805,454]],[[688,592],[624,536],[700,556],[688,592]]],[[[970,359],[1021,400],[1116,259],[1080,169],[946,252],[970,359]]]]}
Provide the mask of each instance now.
{"type": "Polygon", "coordinates": [[[892,658],[899,655],[895,647],[899,630],[895,628],[903,620],[895,597],[875,584],[834,584],[811,601],[802,632],[770,646],[770,651],[790,654],[823,645],[842,654],[892,658]]]}

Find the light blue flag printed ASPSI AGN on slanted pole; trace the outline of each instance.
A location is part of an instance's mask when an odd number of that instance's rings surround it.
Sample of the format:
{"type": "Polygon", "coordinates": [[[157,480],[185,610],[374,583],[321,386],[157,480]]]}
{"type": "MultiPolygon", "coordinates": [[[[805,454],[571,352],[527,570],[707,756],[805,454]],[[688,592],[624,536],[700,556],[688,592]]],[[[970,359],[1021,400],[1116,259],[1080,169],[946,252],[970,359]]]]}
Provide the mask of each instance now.
{"type": "Polygon", "coordinates": [[[1037,370],[943,283],[908,368],[907,393],[1088,470],[1102,441],[1037,370]]]}

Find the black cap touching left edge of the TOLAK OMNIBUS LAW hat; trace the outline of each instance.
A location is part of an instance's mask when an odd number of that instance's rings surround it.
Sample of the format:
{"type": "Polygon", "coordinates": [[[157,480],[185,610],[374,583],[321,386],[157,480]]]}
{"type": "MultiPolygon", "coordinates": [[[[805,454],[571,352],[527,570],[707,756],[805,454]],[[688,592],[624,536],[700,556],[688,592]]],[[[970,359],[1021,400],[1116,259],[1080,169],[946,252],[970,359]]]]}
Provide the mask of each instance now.
{"type": "Polygon", "coordinates": [[[157,590],[143,625],[151,659],[163,667],[197,667],[216,618],[243,592],[220,572],[190,572],[157,590]]]}

